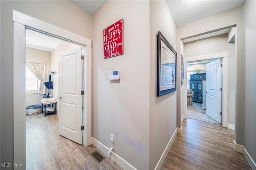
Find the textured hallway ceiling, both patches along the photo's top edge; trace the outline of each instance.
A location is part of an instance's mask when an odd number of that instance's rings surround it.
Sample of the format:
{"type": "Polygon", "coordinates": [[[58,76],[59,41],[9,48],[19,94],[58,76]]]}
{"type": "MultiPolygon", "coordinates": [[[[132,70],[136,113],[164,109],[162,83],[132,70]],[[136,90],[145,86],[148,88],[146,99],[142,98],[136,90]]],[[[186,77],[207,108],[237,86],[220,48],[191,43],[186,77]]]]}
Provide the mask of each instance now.
{"type": "MultiPolygon", "coordinates": [[[[84,11],[94,14],[108,0],[69,0],[84,11]]],[[[245,0],[166,0],[177,27],[236,8],[245,0]]]]}

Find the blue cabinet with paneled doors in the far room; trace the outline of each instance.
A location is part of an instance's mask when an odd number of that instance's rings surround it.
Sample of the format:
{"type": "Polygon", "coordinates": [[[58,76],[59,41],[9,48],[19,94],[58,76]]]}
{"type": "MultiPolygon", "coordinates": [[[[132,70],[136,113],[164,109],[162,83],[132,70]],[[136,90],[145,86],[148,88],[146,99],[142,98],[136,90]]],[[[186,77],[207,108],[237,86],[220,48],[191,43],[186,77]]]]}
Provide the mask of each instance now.
{"type": "Polygon", "coordinates": [[[190,75],[189,88],[194,91],[193,101],[203,103],[203,80],[205,73],[190,75]]]}

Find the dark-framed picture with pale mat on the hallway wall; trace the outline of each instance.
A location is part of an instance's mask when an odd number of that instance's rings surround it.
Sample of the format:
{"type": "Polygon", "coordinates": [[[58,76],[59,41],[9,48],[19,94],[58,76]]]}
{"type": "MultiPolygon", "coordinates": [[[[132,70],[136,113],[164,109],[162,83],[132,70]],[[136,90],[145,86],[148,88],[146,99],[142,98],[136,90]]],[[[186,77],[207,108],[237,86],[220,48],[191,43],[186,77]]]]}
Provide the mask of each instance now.
{"type": "Polygon", "coordinates": [[[157,90],[162,96],[176,91],[177,52],[161,32],[157,36],[157,90]]]}

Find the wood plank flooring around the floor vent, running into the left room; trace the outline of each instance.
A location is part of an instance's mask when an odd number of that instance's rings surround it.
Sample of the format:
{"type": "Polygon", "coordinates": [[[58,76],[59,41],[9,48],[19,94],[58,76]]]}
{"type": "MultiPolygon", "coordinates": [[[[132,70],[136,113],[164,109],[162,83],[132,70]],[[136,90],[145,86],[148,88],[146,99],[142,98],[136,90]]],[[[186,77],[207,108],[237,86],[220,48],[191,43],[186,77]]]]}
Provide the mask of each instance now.
{"type": "Polygon", "coordinates": [[[98,163],[90,155],[95,146],[81,146],[58,134],[58,115],[26,115],[27,170],[119,170],[106,157],[98,163]]]}

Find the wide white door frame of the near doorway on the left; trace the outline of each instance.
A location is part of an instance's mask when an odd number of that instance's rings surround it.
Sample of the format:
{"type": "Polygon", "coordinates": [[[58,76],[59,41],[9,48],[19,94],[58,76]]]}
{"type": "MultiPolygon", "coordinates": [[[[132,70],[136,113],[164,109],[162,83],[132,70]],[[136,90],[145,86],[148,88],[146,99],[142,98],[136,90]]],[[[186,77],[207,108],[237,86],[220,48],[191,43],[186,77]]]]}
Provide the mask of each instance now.
{"type": "MultiPolygon", "coordinates": [[[[48,24],[15,10],[13,17],[13,114],[14,114],[14,162],[26,168],[26,114],[25,114],[25,26],[50,33],[84,46],[84,124],[83,141],[91,144],[91,40],[57,26],[48,24]]],[[[15,168],[16,169],[16,168],[15,168]]]]}

